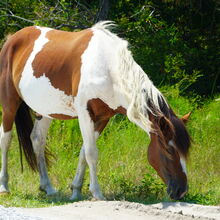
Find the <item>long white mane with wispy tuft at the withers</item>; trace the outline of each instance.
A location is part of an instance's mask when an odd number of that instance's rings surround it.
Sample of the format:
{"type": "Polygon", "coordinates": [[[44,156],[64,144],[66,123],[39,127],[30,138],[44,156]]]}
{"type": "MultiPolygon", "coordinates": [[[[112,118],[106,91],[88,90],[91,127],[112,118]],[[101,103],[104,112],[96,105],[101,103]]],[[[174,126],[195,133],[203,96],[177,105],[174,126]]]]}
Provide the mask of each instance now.
{"type": "Polygon", "coordinates": [[[117,51],[115,59],[117,64],[114,67],[114,78],[115,82],[119,84],[121,92],[130,100],[127,108],[129,120],[147,132],[152,131],[148,111],[154,115],[162,114],[159,100],[165,99],[133,59],[132,53],[128,49],[128,42],[110,32],[109,28],[114,26],[115,24],[111,21],[104,21],[95,24],[93,28],[102,30],[116,42],[114,50],[117,51]],[[152,106],[148,105],[149,100],[156,111],[152,112],[152,106]]]}

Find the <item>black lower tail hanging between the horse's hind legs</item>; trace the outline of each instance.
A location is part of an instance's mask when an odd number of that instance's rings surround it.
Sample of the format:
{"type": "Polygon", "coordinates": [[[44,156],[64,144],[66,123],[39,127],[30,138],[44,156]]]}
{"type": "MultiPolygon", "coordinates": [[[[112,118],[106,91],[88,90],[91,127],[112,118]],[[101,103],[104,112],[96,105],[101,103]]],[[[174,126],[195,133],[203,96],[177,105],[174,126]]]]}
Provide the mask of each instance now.
{"type": "Polygon", "coordinates": [[[37,159],[30,138],[31,131],[34,125],[29,107],[25,102],[22,102],[17,110],[15,116],[15,124],[18,135],[19,147],[20,147],[22,170],[23,170],[23,164],[22,164],[22,150],[23,150],[28,165],[33,171],[37,171],[38,170],[37,159]]]}

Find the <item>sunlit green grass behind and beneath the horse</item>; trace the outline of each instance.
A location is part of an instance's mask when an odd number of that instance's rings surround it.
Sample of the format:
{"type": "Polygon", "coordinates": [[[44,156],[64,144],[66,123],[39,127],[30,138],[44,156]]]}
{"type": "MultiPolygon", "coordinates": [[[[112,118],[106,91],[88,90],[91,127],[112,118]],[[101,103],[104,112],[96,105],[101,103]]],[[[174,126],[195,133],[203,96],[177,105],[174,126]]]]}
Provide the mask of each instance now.
{"type": "MultiPolygon", "coordinates": [[[[193,139],[187,164],[189,192],[185,202],[220,205],[220,101],[209,101],[202,108],[180,97],[176,90],[165,90],[177,115],[192,111],[188,129],[193,139]]],[[[82,145],[77,120],[53,121],[48,146],[56,155],[49,170],[58,195],[47,197],[38,191],[39,177],[25,163],[21,173],[17,137],[9,153],[9,187],[11,194],[0,196],[4,206],[43,207],[69,203],[69,185],[74,177],[82,145]]],[[[170,201],[166,187],[147,161],[149,138],[125,117],[112,118],[98,140],[98,178],[109,200],[141,203],[170,201]]],[[[83,199],[90,199],[88,170],[83,187],[83,199]]]]}

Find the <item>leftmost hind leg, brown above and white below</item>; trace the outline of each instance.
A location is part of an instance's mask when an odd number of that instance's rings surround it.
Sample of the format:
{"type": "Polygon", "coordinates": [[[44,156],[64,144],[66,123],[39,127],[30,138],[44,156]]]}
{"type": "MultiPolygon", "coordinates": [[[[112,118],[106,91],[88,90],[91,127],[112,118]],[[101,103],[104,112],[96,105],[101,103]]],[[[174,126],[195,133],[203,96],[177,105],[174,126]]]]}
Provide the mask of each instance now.
{"type": "Polygon", "coordinates": [[[16,108],[4,111],[2,125],[0,127],[0,149],[2,154],[2,166],[0,172],[0,193],[8,193],[8,150],[11,143],[12,125],[16,114],[16,108]]]}

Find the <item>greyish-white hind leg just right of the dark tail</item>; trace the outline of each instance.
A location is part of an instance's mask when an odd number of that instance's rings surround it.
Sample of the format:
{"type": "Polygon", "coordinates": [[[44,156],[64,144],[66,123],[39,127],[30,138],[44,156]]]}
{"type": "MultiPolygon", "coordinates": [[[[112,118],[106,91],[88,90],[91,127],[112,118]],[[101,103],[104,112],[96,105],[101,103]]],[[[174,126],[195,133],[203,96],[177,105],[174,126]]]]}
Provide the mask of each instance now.
{"type": "Polygon", "coordinates": [[[46,144],[46,136],[50,123],[51,119],[49,118],[42,117],[40,120],[36,119],[34,128],[31,132],[31,141],[36,155],[40,175],[40,190],[46,192],[47,195],[53,195],[57,192],[50,183],[44,155],[44,146],[46,144]]]}

